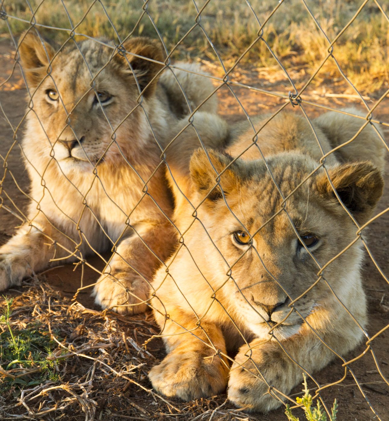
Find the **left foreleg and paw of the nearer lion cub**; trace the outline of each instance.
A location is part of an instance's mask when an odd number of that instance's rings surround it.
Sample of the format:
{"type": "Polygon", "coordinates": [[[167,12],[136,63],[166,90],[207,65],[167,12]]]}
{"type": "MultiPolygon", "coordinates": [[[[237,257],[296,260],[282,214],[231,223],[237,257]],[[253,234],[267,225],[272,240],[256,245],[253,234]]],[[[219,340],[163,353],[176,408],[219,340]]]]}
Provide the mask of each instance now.
{"type": "MultiPolygon", "coordinates": [[[[170,350],[164,360],[149,373],[153,387],[162,394],[183,400],[210,397],[223,392],[227,385],[229,365],[224,354],[223,334],[216,325],[201,321],[197,326],[193,316],[169,312],[169,317],[185,326],[183,330],[170,320],[166,321],[163,335],[166,349],[170,350]]],[[[163,321],[162,321],[163,322],[163,321]]]]}

